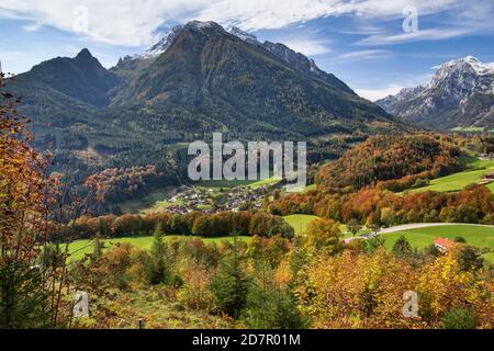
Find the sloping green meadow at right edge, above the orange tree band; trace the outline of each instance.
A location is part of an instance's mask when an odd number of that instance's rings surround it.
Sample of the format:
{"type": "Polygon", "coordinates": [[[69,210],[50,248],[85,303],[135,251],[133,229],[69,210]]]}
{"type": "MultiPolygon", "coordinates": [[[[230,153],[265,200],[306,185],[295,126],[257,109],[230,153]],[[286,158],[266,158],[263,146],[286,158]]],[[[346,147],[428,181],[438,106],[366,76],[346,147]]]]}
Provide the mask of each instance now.
{"type": "MultiPolygon", "coordinates": [[[[450,174],[447,177],[434,179],[430,184],[424,188],[414,189],[412,192],[423,191],[439,191],[439,192],[452,192],[459,191],[467,185],[473,183],[480,183],[485,174],[494,172],[494,160],[480,160],[473,157],[464,157],[460,160],[461,163],[471,167],[471,170],[450,174]]],[[[494,183],[487,185],[487,188],[494,192],[494,183]]]]}

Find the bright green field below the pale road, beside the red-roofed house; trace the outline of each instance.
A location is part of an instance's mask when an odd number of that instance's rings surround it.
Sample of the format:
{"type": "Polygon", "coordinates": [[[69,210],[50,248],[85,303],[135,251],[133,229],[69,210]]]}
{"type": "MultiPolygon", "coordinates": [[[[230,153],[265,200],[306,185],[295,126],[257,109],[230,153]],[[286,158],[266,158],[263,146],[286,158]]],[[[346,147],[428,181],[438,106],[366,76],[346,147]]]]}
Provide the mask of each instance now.
{"type": "MultiPolygon", "coordinates": [[[[453,240],[456,237],[460,236],[467,240],[468,245],[478,248],[487,248],[494,250],[493,227],[474,225],[438,226],[383,234],[382,237],[386,239],[386,241],[384,242],[386,249],[391,250],[394,242],[402,235],[405,236],[405,238],[413,247],[418,249],[424,249],[425,247],[431,245],[433,241],[439,237],[453,240]]],[[[494,252],[485,254],[484,258],[490,260],[491,262],[494,262],[494,252]]]]}

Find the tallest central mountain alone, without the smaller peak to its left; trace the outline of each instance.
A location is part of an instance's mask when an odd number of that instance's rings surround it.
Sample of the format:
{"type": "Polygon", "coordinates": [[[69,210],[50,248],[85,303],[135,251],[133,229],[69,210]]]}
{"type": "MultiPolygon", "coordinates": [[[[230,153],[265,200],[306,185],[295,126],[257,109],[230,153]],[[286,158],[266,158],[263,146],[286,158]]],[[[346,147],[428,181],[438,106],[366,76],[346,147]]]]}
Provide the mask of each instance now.
{"type": "Polygon", "coordinates": [[[122,86],[112,106],[139,106],[142,118],[158,115],[189,133],[244,137],[366,133],[378,122],[393,127],[391,116],[336,78],[315,79],[215,23],[188,23],[167,45],[122,86]]]}

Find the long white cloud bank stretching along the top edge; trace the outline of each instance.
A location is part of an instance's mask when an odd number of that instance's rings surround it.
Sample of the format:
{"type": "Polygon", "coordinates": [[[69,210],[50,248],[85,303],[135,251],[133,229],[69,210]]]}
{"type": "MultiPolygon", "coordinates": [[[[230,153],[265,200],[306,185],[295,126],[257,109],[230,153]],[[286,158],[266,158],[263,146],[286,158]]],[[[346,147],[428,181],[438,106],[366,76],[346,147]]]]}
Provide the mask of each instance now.
{"type": "MultiPolygon", "coordinates": [[[[419,13],[441,11],[460,0],[415,0],[419,13]]],[[[155,31],[169,21],[192,19],[235,24],[244,30],[280,29],[316,18],[356,14],[402,16],[411,0],[0,0],[0,18],[31,21],[27,30],[41,25],[80,33],[80,4],[88,9],[92,39],[139,46],[155,39],[155,31]]],[[[82,21],[83,22],[83,21],[82,21]]],[[[313,47],[315,48],[315,47],[313,47]]],[[[318,47],[317,50],[322,48],[318,47]]]]}

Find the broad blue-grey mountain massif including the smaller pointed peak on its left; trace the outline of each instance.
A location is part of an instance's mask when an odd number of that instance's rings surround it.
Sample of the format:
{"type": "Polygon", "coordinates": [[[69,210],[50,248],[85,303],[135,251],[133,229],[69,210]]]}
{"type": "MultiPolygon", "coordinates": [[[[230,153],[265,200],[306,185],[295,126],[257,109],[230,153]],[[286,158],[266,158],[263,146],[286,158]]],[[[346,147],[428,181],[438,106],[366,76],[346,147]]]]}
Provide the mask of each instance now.
{"type": "Polygon", "coordinates": [[[214,22],[176,26],[109,70],[88,49],[44,61],[11,90],[26,97],[21,111],[40,147],[76,150],[86,163],[89,155],[97,169],[169,170],[176,156],[164,155],[213,132],[240,140],[308,138],[313,150],[326,146],[313,157],[335,158],[347,145],[341,137],[403,129],[304,55],[214,22]]]}

